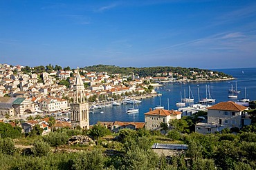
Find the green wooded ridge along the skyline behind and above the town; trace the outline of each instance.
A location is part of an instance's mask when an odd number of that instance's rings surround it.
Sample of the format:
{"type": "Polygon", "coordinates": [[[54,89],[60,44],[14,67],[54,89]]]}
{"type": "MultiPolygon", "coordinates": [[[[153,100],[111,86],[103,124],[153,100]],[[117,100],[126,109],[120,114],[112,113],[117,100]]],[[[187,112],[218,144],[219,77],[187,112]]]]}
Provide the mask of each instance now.
{"type": "MultiPolygon", "coordinates": [[[[24,67],[21,71],[30,74],[37,73],[42,74],[43,72],[53,72],[57,70],[72,70],[71,67],[61,67],[60,65],[43,65],[36,67],[24,67]]],[[[170,67],[170,66],[158,66],[158,67],[119,67],[116,65],[93,65],[81,68],[81,70],[86,70],[87,72],[107,72],[108,74],[122,74],[131,75],[132,73],[140,76],[172,76],[173,78],[183,78],[188,77],[188,79],[196,80],[198,78],[205,78],[208,80],[222,79],[222,78],[232,78],[232,76],[225,74],[223,72],[217,72],[212,70],[199,69],[195,67],[170,67]],[[169,73],[172,73],[170,75],[169,73]]],[[[81,74],[84,74],[83,72],[81,74]]]]}

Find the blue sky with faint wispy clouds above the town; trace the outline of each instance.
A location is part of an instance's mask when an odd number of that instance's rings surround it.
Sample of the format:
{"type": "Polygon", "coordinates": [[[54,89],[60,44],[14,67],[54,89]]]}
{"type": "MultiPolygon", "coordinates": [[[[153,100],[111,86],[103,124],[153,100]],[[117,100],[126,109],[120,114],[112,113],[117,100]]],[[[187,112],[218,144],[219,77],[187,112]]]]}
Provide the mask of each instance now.
{"type": "Polygon", "coordinates": [[[256,1],[0,0],[0,63],[256,66],[256,1]]]}

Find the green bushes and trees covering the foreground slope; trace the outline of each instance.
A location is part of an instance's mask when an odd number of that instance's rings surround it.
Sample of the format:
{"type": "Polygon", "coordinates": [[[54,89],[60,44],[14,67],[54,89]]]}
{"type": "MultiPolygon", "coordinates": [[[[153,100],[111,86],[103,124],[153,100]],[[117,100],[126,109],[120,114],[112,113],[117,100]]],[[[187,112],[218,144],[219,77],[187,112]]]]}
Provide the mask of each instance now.
{"type": "MultiPolygon", "coordinates": [[[[172,130],[162,125],[166,135],[146,129],[120,129],[111,134],[100,124],[89,130],[57,129],[44,136],[38,129],[26,138],[3,135],[0,169],[256,169],[255,123],[238,131],[224,129],[203,135],[190,130],[199,116],[205,113],[172,121],[172,130]],[[68,138],[73,135],[90,136],[100,142],[69,146],[68,138]],[[19,140],[30,141],[30,147],[15,147],[19,140]],[[183,143],[188,150],[165,157],[151,149],[155,142],[183,143]]],[[[12,134],[17,128],[1,123],[0,129],[1,134],[3,129],[12,134]]]]}

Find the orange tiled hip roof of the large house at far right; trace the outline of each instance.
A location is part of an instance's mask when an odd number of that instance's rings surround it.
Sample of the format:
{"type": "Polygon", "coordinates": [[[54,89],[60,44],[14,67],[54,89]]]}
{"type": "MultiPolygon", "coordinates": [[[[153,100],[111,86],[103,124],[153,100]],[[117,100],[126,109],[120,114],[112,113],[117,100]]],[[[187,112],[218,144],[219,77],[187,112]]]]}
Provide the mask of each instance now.
{"type": "Polygon", "coordinates": [[[227,111],[244,111],[245,109],[247,109],[247,107],[238,105],[237,103],[232,101],[228,101],[228,102],[218,103],[216,105],[213,105],[212,107],[208,107],[208,109],[227,110],[227,111]]]}

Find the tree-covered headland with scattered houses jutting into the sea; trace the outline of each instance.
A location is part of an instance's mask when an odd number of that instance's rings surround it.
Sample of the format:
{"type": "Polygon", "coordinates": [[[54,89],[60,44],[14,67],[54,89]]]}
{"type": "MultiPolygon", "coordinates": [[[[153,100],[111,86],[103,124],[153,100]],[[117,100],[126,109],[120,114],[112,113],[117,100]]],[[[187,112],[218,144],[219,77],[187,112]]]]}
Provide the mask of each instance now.
{"type": "MultiPolygon", "coordinates": [[[[223,72],[199,69],[195,67],[118,67],[115,65],[93,65],[84,67],[88,72],[107,72],[108,74],[135,74],[139,77],[158,77],[158,81],[221,81],[233,77],[223,72]]],[[[157,80],[157,78],[155,78],[157,80]]]]}

